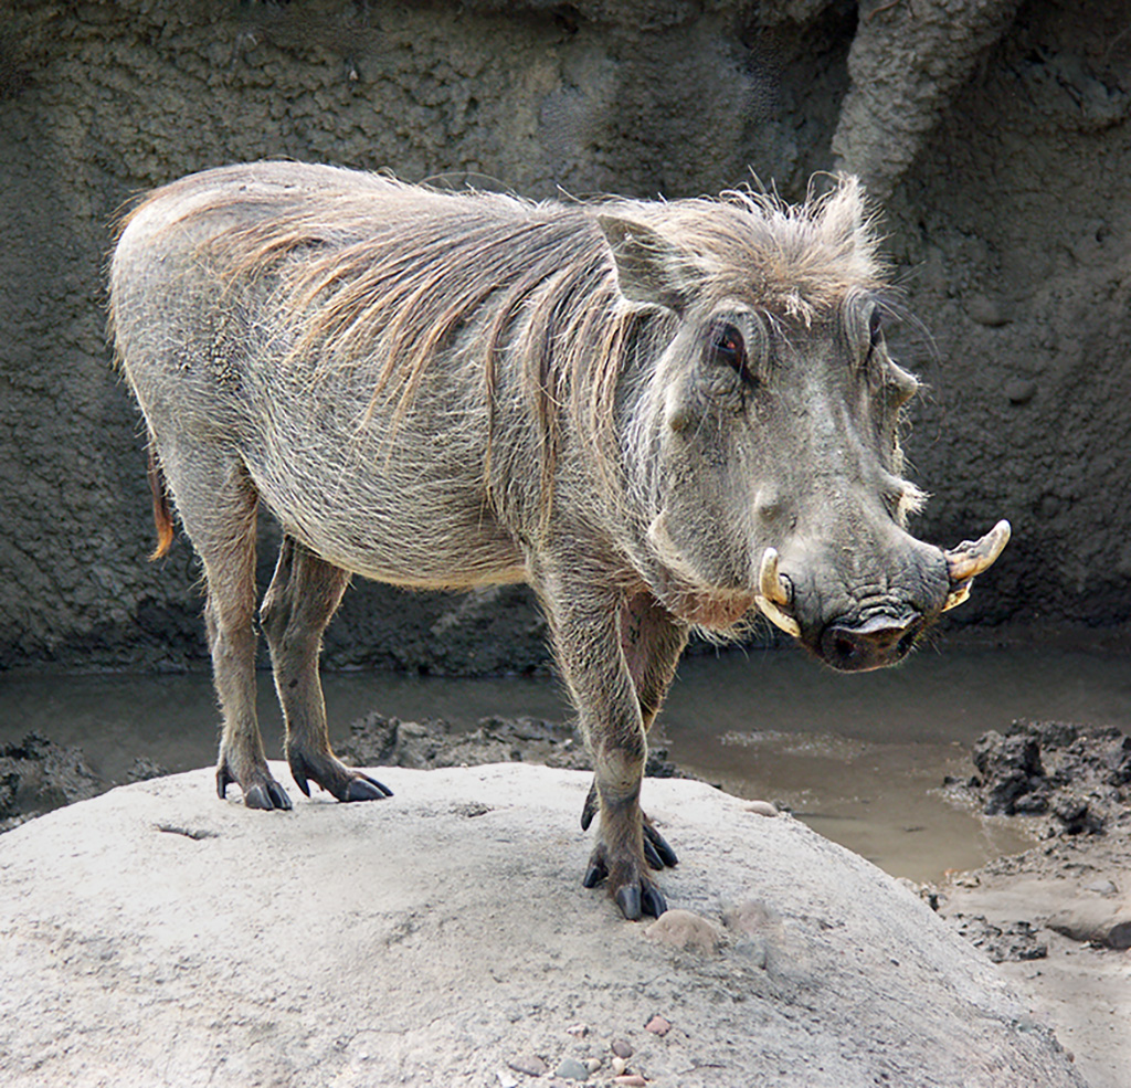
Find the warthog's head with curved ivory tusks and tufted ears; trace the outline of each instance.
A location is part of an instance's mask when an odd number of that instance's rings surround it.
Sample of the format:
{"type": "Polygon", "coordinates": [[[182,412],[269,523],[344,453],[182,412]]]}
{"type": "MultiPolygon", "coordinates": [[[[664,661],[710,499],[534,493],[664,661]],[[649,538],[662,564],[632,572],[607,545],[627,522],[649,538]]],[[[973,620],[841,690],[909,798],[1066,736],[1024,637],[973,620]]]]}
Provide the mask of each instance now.
{"type": "Polygon", "coordinates": [[[709,628],[757,607],[835,668],[901,660],[1009,524],[951,551],[905,528],[924,500],[899,448],[917,382],[884,344],[855,182],[801,208],[736,197],[709,228],[677,206],[602,226],[621,291],[666,314],[627,408],[653,592],[709,628]]]}

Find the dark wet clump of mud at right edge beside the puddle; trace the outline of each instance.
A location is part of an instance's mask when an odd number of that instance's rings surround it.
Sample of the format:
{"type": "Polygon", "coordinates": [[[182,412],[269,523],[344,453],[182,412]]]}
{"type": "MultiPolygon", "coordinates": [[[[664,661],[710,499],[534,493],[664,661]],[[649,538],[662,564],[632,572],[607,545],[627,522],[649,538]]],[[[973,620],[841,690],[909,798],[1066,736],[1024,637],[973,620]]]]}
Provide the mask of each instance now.
{"type": "Polygon", "coordinates": [[[977,774],[946,785],[987,815],[1044,818],[1053,835],[1102,834],[1131,796],[1131,736],[1114,726],[1020,718],[974,744],[977,774]]]}

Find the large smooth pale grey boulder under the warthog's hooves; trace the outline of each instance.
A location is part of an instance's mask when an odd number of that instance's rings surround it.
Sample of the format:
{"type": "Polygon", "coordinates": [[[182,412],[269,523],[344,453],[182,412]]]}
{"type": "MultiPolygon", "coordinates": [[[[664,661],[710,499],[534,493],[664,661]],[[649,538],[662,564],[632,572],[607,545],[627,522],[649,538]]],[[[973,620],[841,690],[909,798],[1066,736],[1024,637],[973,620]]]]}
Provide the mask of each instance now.
{"type": "Polygon", "coordinates": [[[685,914],[633,925],[580,884],[588,775],[374,774],[261,813],[192,771],[0,838],[6,1085],[1083,1086],[988,959],[770,806],[647,780],[685,914]]]}

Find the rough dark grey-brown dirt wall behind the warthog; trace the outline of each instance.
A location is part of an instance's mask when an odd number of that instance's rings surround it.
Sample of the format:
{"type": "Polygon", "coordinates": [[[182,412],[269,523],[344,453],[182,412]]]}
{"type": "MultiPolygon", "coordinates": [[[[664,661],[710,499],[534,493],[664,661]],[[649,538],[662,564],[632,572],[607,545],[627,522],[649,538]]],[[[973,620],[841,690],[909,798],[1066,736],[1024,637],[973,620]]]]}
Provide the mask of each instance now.
{"type": "MultiPolygon", "coordinates": [[[[1131,623],[1131,18],[856,5],[17,0],[0,28],[0,666],[204,655],[183,539],[152,546],[103,269],[131,195],[267,156],[533,197],[803,195],[860,172],[922,321],[921,535],[1015,542],[955,623],[1131,623]],[[898,123],[892,122],[892,118],[898,123]]],[[[406,527],[411,530],[411,527],[406,527]]],[[[273,560],[265,530],[264,577],[273,560]]],[[[357,586],[338,665],[537,667],[524,590],[357,586]]]]}

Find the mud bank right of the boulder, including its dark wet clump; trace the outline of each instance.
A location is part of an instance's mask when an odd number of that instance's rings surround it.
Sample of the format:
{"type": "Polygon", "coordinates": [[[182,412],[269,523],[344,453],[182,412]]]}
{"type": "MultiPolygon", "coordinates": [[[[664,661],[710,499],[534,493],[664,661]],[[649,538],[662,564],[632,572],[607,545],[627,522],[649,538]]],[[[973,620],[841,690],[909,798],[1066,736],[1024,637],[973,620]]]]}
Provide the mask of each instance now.
{"type": "Polygon", "coordinates": [[[1016,722],[974,749],[949,787],[1016,813],[1042,845],[929,892],[942,917],[1029,995],[1091,1088],[1131,1077],[1131,737],[1114,728],[1016,722]]]}

